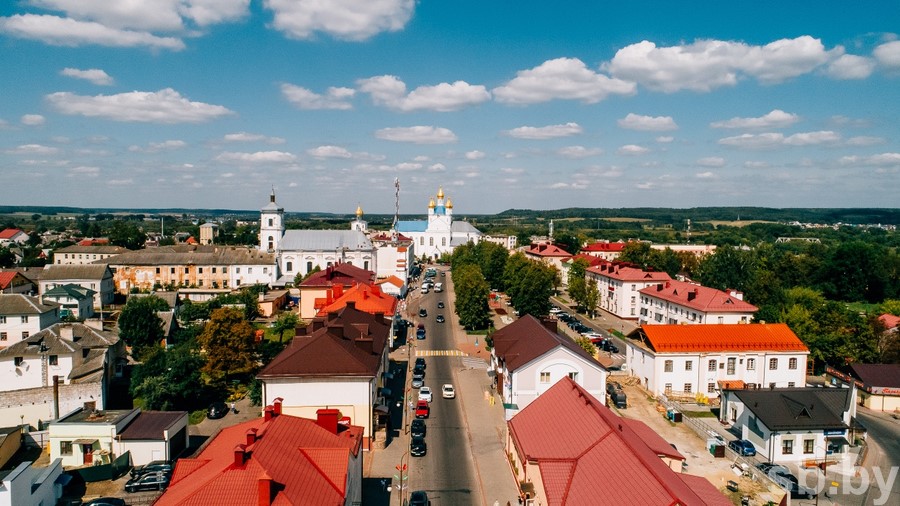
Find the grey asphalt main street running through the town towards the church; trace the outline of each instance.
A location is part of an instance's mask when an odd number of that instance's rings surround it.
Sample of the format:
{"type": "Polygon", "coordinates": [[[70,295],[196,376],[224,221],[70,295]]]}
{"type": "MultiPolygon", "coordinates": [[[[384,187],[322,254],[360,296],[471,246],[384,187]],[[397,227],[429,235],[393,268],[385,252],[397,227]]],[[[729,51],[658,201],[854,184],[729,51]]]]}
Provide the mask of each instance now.
{"type": "MultiPolygon", "coordinates": [[[[441,281],[441,278],[436,278],[441,281]]],[[[455,350],[456,343],[451,334],[451,316],[453,309],[450,307],[450,297],[445,291],[416,295],[418,307],[425,307],[428,316],[420,318],[415,316],[414,323],[425,323],[426,339],[415,341],[417,350],[455,350]],[[437,302],[444,301],[445,308],[438,309],[437,302]],[[443,314],[446,323],[436,323],[438,314],[443,314]]],[[[412,313],[412,312],[411,312],[412,313]]],[[[415,313],[418,315],[418,309],[415,313]]],[[[411,333],[411,337],[415,336],[411,333]]],[[[427,368],[425,372],[425,385],[431,387],[434,392],[434,400],[431,402],[431,414],[426,420],[428,433],[425,441],[428,444],[428,453],[424,457],[410,458],[411,490],[425,490],[428,498],[434,505],[471,505],[481,501],[480,489],[473,469],[475,463],[469,452],[468,434],[465,426],[465,417],[462,412],[462,403],[459,396],[480,395],[481,392],[462,391],[455,379],[454,368],[459,362],[457,356],[429,356],[425,358],[427,368]],[[456,399],[444,399],[441,397],[441,385],[451,383],[457,387],[456,399]]],[[[415,392],[415,390],[413,390],[415,392]]],[[[413,394],[415,398],[417,394],[413,394]]]]}

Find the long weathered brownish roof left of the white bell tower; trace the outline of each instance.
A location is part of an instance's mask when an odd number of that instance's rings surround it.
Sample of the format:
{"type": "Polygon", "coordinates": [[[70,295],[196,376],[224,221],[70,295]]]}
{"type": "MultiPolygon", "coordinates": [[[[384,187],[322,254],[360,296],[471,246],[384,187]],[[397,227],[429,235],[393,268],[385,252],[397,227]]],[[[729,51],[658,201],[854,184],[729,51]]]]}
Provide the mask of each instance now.
{"type": "MultiPolygon", "coordinates": [[[[101,262],[98,260],[97,262],[101,262]]],[[[113,259],[110,265],[275,265],[275,255],[254,248],[237,246],[178,244],[130,251],[113,259]]],[[[96,262],[95,262],[96,263],[96,262]]]]}

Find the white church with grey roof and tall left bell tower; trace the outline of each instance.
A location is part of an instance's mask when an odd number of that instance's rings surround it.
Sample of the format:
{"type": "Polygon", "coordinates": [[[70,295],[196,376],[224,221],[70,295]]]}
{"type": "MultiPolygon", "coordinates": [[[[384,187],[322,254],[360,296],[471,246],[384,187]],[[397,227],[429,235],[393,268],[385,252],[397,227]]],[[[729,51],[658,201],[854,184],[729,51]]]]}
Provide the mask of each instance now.
{"type": "Polygon", "coordinates": [[[362,209],[357,209],[349,230],[285,230],[284,208],[275,202],[273,190],[260,211],[259,250],[275,254],[276,285],[292,283],[297,274],[305,276],[316,267],[324,270],[339,263],[374,272],[377,256],[367,231],[362,209]]]}

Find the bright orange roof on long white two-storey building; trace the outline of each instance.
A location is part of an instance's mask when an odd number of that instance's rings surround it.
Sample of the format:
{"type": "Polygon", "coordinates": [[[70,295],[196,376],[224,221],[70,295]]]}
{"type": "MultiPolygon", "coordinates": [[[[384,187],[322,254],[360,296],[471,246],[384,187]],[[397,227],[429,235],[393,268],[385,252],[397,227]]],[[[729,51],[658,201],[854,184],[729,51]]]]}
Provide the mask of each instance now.
{"type": "Polygon", "coordinates": [[[641,332],[658,353],[809,352],[784,323],[642,325],[641,332]]]}

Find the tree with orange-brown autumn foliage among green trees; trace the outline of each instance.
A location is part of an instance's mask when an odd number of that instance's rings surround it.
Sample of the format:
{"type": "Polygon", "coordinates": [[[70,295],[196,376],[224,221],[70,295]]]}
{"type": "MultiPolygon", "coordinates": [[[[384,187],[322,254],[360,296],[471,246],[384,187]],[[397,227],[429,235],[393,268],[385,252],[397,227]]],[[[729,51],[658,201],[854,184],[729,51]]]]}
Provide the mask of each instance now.
{"type": "Polygon", "coordinates": [[[206,352],[202,371],[214,381],[256,370],[254,330],[239,309],[213,311],[197,340],[206,352]]]}

